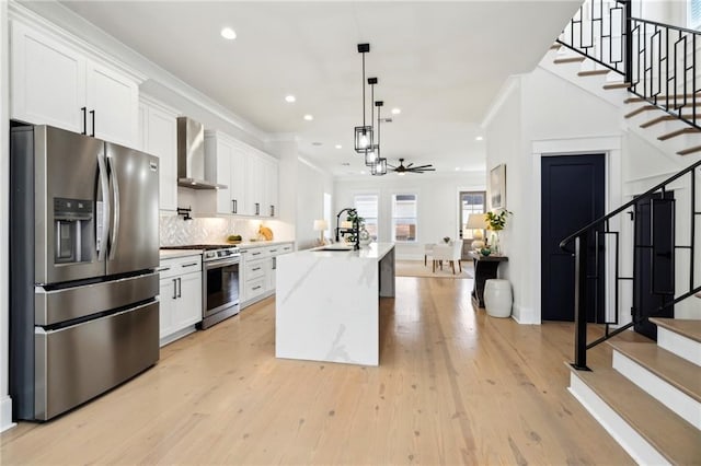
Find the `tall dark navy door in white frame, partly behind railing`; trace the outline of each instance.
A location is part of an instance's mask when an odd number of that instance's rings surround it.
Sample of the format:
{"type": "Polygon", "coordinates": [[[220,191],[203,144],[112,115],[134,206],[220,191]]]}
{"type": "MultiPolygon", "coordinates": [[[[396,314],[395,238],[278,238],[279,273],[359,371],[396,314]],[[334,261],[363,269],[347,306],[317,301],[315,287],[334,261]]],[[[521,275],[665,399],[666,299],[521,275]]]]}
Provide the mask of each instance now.
{"type": "MultiPolygon", "coordinates": [[[[541,316],[543,321],[574,321],[574,257],[560,242],[604,217],[605,156],[562,155],[541,159],[541,316]]],[[[589,275],[604,279],[605,260],[596,270],[595,242],[587,251],[589,275]]],[[[594,281],[588,284],[595,289],[594,281]]],[[[591,293],[589,322],[602,322],[604,293],[591,293]]]]}

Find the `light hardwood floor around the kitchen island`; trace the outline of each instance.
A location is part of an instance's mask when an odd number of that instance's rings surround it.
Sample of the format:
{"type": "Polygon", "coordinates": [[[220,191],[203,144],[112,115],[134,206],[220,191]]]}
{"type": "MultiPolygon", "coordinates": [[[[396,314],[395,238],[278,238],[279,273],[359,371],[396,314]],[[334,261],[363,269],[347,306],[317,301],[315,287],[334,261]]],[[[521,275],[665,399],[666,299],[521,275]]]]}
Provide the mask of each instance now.
{"type": "Polygon", "coordinates": [[[472,280],[397,286],[378,368],[275,359],[268,299],[92,403],[2,433],[0,464],[633,464],[566,389],[571,324],[475,312],[472,280]]]}

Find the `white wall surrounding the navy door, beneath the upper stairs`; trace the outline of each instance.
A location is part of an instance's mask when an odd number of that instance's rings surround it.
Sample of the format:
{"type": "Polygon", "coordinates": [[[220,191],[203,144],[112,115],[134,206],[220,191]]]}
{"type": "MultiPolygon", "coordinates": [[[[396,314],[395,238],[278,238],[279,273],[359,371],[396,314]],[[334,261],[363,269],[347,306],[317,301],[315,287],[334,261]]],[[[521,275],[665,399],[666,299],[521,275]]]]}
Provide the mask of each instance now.
{"type": "MultiPolygon", "coordinates": [[[[502,237],[509,261],[499,272],[513,283],[515,318],[539,323],[541,158],[605,153],[607,212],[693,161],[645,141],[637,128],[628,126],[622,102],[608,102],[540,66],[513,78],[495,102],[485,121],[487,170],[506,163],[507,208],[514,212],[502,237]]],[[[680,194],[688,191],[683,184],[679,189],[680,194]]],[[[624,219],[618,222],[623,242],[630,243],[632,226],[624,219]]],[[[688,231],[688,219],[677,218],[677,229],[688,231]]],[[[686,244],[680,233],[678,241],[686,244]]],[[[628,260],[624,267],[632,264],[631,257],[623,259],[628,260]]],[[[688,272],[688,264],[678,264],[681,277],[685,267],[688,272]]],[[[621,308],[629,310],[629,301],[621,308]]],[[[698,304],[689,300],[679,304],[677,315],[688,316],[688,307],[693,305],[698,304]]],[[[620,318],[627,322],[630,312],[623,311],[620,318]]]]}

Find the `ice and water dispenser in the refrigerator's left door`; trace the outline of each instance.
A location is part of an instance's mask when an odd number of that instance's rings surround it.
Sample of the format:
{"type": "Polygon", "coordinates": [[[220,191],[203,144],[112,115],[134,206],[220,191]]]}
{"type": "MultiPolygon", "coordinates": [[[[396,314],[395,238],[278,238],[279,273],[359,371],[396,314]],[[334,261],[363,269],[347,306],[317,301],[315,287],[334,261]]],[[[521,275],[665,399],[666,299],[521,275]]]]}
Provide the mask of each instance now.
{"type": "Polygon", "coordinates": [[[56,264],[92,260],[93,218],[92,200],[54,198],[56,264]]]}

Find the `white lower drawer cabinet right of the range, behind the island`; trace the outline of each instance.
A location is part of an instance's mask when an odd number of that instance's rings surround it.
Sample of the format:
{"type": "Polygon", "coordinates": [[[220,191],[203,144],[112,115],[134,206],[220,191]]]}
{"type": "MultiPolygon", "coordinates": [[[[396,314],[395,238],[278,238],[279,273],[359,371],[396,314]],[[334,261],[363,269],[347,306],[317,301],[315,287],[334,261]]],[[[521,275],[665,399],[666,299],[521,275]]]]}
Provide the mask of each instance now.
{"type": "Polygon", "coordinates": [[[241,308],[275,294],[277,256],[292,251],[292,243],[241,248],[241,308]]]}

